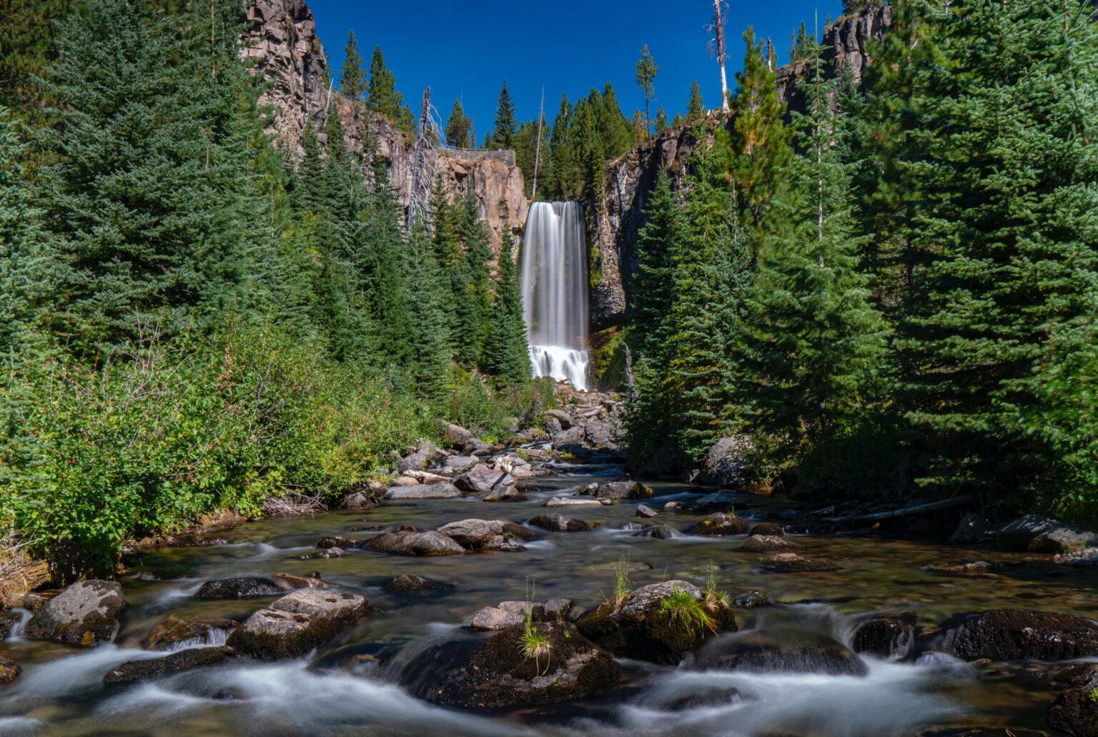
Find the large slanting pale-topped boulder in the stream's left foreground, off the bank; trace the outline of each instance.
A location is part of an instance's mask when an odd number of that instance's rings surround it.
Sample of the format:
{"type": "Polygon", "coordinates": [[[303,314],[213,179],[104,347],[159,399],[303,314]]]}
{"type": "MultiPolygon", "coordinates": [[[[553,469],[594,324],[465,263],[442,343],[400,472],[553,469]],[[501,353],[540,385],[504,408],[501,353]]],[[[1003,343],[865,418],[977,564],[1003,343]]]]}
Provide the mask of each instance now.
{"type": "Polygon", "coordinates": [[[227,645],[262,660],[295,658],[366,616],[367,603],[358,594],[300,589],[249,616],[227,645]]]}

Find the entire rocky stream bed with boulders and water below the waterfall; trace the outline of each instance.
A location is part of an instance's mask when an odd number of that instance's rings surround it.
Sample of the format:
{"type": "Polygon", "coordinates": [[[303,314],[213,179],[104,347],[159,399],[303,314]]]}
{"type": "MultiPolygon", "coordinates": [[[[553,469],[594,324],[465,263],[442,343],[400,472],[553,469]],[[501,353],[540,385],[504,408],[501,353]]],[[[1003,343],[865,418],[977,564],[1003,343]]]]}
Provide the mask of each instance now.
{"type": "Polygon", "coordinates": [[[1093,569],[626,479],[615,412],[26,598],[0,734],[1098,734],[1093,569]]]}

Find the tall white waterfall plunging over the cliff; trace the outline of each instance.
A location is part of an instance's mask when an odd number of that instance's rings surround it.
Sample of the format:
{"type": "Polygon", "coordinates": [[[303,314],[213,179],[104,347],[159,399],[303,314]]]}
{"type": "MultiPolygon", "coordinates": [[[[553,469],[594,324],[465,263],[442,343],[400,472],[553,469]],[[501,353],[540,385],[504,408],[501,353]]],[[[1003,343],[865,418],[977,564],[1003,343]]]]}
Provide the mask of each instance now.
{"type": "Polygon", "coordinates": [[[523,241],[523,316],[535,376],[587,389],[587,246],[579,202],[535,202],[523,241]]]}

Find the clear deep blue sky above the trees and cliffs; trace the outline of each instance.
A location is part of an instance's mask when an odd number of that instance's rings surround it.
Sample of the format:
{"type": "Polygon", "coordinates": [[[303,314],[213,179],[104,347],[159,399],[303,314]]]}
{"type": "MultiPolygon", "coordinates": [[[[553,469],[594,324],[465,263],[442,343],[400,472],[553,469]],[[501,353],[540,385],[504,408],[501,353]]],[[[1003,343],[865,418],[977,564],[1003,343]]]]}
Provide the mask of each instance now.
{"type": "MultiPolygon", "coordinates": [[[[455,98],[462,98],[478,143],[493,126],[495,101],[504,78],[515,98],[519,120],[537,116],[545,85],[546,118],[561,94],[586,94],[592,87],[614,85],[626,116],[643,108],[634,83],[634,66],[648,44],[660,70],[656,107],[668,116],[686,107],[691,80],[697,77],[709,108],[720,104],[720,77],[706,48],[712,0],[309,0],[333,68],[343,65],[347,32],[355,30],[369,66],[374,45],[396,76],[396,88],[417,111],[425,87],[442,123],[455,98]]],[[[828,13],[838,16],[841,0],[728,0],[728,86],[743,58],[741,33],[749,24],[770,36],[780,63],[786,62],[789,35],[800,21],[813,27],[816,11],[822,29],[828,13]]]]}

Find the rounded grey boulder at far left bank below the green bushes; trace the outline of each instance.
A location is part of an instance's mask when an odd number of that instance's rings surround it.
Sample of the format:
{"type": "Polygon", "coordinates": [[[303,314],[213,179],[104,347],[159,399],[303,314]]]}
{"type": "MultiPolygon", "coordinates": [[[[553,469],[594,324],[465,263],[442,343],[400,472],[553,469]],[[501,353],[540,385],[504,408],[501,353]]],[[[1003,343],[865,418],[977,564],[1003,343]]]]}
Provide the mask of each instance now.
{"type": "Polygon", "coordinates": [[[117,582],[80,581],[35,612],[26,625],[26,636],[78,647],[108,643],[119,632],[119,613],[124,605],[117,582]]]}

